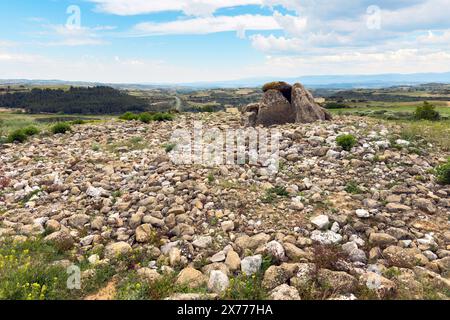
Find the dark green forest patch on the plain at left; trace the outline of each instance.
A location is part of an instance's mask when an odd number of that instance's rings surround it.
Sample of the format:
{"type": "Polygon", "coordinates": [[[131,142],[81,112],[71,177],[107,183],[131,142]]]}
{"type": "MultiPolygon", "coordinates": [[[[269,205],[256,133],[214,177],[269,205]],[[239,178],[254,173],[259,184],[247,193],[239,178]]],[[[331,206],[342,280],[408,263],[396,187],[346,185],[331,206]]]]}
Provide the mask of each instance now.
{"type": "Polygon", "coordinates": [[[145,99],[110,87],[71,87],[69,90],[32,89],[0,94],[0,107],[27,113],[119,114],[146,111],[145,99]]]}

